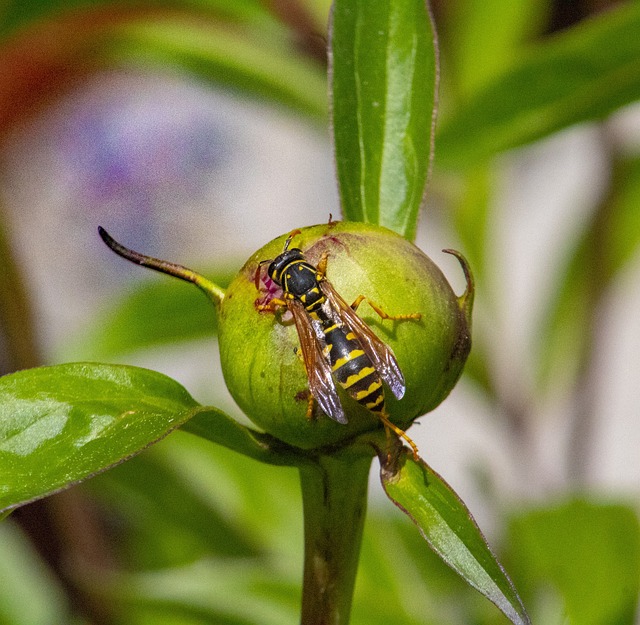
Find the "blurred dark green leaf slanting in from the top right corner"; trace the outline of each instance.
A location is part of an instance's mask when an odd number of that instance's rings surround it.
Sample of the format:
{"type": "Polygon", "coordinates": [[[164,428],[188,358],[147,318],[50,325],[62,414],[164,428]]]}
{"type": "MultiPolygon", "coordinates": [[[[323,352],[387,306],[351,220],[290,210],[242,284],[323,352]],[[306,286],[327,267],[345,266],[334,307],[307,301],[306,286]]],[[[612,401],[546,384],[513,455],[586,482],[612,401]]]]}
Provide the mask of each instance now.
{"type": "Polygon", "coordinates": [[[629,2],[532,46],[440,126],[438,166],[468,168],[640,98],[639,31],[629,2]]]}

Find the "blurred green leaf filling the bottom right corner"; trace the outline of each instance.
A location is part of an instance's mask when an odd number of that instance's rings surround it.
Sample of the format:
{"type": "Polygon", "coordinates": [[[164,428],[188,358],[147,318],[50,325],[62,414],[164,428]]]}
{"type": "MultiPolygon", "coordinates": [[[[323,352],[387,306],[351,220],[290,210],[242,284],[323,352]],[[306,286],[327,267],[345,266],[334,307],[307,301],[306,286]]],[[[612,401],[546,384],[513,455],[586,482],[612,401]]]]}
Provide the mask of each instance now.
{"type": "Polygon", "coordinates": [[[569,622],[632,625],[640,591],[640,524],[632,507],[576,499],[528,512],[509,528],[514,570],[553,585],[569,622]]]}

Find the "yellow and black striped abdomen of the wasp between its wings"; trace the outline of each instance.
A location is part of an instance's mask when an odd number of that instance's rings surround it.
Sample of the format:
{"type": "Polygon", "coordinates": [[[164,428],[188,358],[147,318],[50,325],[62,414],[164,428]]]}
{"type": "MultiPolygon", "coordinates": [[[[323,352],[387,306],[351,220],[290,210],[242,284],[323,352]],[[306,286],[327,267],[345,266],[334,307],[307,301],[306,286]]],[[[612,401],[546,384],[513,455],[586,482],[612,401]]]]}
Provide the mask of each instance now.
{"type": "Polygon", "coordinates": [[[352,332],[341,325],[323,328],[333,375],[351,397],[372,412],[384,412],[380,375],[352,332]]]}

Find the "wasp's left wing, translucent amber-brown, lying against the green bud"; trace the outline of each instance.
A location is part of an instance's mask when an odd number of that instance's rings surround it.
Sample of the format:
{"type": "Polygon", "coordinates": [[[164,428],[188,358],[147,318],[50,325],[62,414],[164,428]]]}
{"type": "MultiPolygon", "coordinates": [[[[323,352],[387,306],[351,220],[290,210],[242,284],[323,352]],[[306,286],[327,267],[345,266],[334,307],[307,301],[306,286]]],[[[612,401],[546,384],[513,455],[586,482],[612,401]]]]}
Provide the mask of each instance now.
{"type": "Polygon", "coordinates": [[[325,346],[318,338],[312,320],[300,302],[296,300],[288,301],[287,306],[293,314],[293,320],[298,331],[302,359],[307,370],[311,395],[327,416],[338,423],[347,423],[344,409],[333,382],[331,365],[323,351],[325,346]]]}

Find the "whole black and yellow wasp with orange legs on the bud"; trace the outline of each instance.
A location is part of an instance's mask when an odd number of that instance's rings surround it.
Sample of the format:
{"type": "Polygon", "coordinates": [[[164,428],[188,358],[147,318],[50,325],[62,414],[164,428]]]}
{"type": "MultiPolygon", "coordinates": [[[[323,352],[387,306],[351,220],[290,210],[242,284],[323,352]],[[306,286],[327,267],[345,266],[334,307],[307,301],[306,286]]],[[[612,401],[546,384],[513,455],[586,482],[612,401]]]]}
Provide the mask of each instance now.
{"type": "MultiPolygon", "coordinates": [[[[375,414],[387,432],[392,430],[406,440],[417,457],[415,443],[391,423],[385,410],[383,382],[397,399],[402,399],[405,380],[391,348],[356,314],[366,298],[360,295],[353,304],[347,304],[327,280],[326,252],[314,266],[301,249],[289,247],[298,234],[300,230],[289,234],[282,253],[275,259],[260,262],[256,285],[260,268],[269,263],[267,274],[282,289],[282,298],[258,304],[258,310],[276,312],[286,308],[291,312],[309,381],[307,416],[312,416],[315,400],[331,419],[347,423],[337,382],[349,396],[375,414]]],[[[367,302],[382,319],[421,318],[420,313],[388,315],[370,300],[367,302]]]]}

